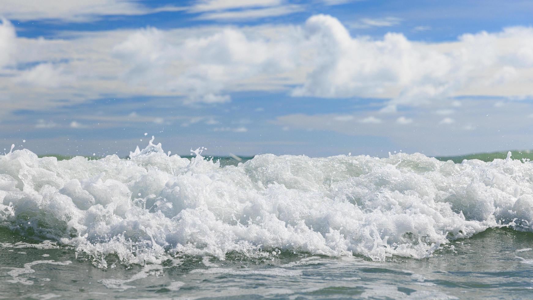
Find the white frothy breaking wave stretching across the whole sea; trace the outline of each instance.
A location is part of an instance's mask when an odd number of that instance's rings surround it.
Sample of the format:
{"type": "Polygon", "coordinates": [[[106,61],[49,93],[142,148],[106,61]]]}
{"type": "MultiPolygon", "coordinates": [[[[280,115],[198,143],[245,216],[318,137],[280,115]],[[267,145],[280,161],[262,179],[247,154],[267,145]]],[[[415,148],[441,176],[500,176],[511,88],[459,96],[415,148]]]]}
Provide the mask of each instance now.
{"type": "Polygon", "coordinates": [[[168,156],[152,141],[131,159],[7,153],[0,222],[73,246],[102,267],[111,253],[128,263],[274,250],[421,258],[487,228],[532,231],[533,164],[511,157],[454,164],[419,153],[260,155],[220,167],[196,153],[192,161],[168,156]]]}

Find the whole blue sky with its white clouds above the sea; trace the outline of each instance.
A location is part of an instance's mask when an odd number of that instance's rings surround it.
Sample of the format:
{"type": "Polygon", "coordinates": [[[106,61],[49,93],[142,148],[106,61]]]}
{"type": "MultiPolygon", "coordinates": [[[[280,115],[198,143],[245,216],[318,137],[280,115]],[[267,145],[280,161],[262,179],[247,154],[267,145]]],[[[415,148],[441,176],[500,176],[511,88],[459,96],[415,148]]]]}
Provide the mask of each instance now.
{"type": "Polygon", "coordinates": [[[151,135],[179,154],[531,149],[532,12],[530,1],[4,0],[0,139],[121,156],[151,135]]]}

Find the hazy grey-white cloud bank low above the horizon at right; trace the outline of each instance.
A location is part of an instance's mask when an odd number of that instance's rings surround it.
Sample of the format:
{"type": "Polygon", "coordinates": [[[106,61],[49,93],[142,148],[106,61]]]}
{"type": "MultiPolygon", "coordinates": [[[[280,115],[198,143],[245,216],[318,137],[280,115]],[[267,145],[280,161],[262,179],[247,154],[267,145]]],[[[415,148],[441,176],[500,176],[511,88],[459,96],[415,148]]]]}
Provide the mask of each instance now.
{"type": "MultiPolygon", "coordinates": [[[[356,123],[357,119],[365,118],[365,110],[353,111],[354,121],[333,122],[335,115],[331,113],[306,115],[297,113],[277,117],[272,123],[280,129],[290,127],[292,130],[312,130],[335,132],[348,136],[358,136],[356,140],[365,144],[365,137],[386,139],[392,142],[395,149],[404,152],[423,152],[426,155],[450,155],[453,153],[474,153],[480,151],[499,151],[505,149],[527,149],[531,145],[530,138],[524,132],[531,127],[531,103],[527,101],[509,101],[506,106],[495,109],[479,98],[463,98],[464,109],[455,113],[455,123],[439,124],[442,118],[435,118],[434,107],[417,107],[409,110],[409,118],[413,123],[400,125],[397,118],[384,118],[381,124],[356,123]],[[450,129],[453,127],[453,131],[450,129]],[[494,141],[499,141],[494,143],[494,141]],[[396,148],[398,147],[398,148],[396,148]],[[401,147],[401,148],[400,148],[401,147]]],[[[442,108],[449,102],[435,103],[442,108]]],[[[375,108],[377,109],[377,108],[375,108]]],[[[342,110],[339,115],[342,115],[342,110]]],[[[337,115],[338,116],[338,115],[337,115]]],[[[400,115],[401,116],[401,115],[400,115]]],[[[390,117],[387,115],[387,117],[390,117]]],[[[407,117],[406,117],[407,118],[407,117]]],[[[445,121],[446,122],[446,121],[445,121]]],[[[447,121],[449,122],[449,120],[447,121]]],[[[347,139],[348,140],[348,139],[347,139]]],[[[375,141],[375,140],[372,140],[375,141]]],[[[383,140],[382,140],[383,141],[383,140]]],[[[376,143],[379,143],[376,141],[376,143]]],[[[377,147],[372,151],[386,155],[386,147],[377,147]]],[[[390,149],[390,148],[389,148],[390,149]]],[[[368,153],[369,151],[362,151],[368,153]]]]}

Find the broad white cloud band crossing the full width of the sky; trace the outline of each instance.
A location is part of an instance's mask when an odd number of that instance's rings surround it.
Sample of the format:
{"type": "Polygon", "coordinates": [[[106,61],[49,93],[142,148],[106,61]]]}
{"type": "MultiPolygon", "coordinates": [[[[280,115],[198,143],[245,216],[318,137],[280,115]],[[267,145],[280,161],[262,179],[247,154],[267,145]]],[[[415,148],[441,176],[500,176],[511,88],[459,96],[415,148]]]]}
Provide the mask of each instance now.
{"type": "MultiPolygon", "coordinates": [[[[197,11],[226,11],[221,3],[202,2],[197,11]]],[[[265,0],[259,7],[280,3],[265,0]]],[[[232,92],[260,90],[389,98],[394,112],[461,95],[531,96],[533,28],[422,43],[399,33],[354,37],[336,18],[314,15],[301,26],[148,27],[43,39],[17,38],[3,20],[0,73],[10,78],[0,83],[4,97],[22,104],[41,99],[36,108],[104,94],[223,103],[232,92]]]]}

